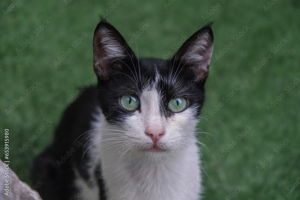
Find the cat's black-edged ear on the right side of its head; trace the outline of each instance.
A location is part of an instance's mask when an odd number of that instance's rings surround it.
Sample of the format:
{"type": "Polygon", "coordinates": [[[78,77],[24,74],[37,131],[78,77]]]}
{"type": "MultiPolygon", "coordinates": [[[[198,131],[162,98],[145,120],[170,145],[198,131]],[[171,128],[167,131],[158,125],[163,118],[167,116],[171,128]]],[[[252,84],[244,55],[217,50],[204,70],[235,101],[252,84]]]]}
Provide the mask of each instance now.
{"type": "Polygon", "coordinates": [[[195,75],[196,82],[205,82],[208,76],[214,36],[211,23],[194,33],[179,48],[173,61],[179,67],[195,75]]]}

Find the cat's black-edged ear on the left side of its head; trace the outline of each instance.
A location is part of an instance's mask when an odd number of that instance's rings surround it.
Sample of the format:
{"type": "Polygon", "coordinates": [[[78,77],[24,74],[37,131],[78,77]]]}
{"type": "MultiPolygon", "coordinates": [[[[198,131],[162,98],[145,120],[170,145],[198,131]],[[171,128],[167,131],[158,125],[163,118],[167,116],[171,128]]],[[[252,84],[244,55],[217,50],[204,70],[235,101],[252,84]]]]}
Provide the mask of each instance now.
{"type": "Polygon", "coordinates": [[[122,70],[122,66],[136,63],[134,52],[113,25],[100,19],[93,37],[94,71],[101,81],[122,70]]]}

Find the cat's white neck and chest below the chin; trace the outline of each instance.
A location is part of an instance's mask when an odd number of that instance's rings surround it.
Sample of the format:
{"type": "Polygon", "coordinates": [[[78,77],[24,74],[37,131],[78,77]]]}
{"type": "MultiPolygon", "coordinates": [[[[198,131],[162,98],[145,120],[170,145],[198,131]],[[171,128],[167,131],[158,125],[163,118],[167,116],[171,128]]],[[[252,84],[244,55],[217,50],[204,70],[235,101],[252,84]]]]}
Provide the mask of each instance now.
{"type": "Polygon", "coordinates": [[[184,195],[185,199],[198,196],[201,178],[199,149],[193,142],[195,138],[178,151],[165,151],[159,159],[136,157],[130,151],[126,152],[128,147],[120,148],[122,145],[110,143],[112,140],[107,130],[114,127],[101,121],[97,124],[102,133],[98,138],[101,142],[95,144],[97,152],[94,154],[100,155],[95,162],[101,162],[108,199],[130,197],[132,200],[167,200],[176,199],[180,195],[184,195]]]}

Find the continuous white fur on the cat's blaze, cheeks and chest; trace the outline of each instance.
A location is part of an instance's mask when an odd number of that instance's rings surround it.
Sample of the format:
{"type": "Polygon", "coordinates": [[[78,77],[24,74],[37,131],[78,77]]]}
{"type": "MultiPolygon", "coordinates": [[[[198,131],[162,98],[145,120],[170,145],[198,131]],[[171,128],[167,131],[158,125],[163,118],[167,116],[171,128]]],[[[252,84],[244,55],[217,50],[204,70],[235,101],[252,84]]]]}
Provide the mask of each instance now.
{"type": "Polygon", "coordinates": [[[175,200],[183,195],[186,200],[199,200],[195,110],[191,107],[170,118],[161,116],[154,87],[142,92],[140,102],[141,111],[128,117],[121,127],[108,124],[102,114],[95,124],[100,130],[95,132],[90,153],[95,165],[101,162],[108,200],[175,200]],[[164,131],[157,147],[166,151],[145,151],[153,146],[145,133],[149,129],[164,131]]]}

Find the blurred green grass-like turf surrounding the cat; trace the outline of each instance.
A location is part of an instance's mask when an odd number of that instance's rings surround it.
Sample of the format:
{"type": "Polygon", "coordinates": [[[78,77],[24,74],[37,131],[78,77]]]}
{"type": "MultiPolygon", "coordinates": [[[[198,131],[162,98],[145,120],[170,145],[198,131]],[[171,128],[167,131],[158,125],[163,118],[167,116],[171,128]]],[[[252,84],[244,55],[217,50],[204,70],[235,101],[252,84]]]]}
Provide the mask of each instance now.
{"type": "MultiPolygon", "coordinates": [[[[30,183],[32,160],[51,143],[67,100],[94,77],[93,31],[98,14],[115,2],[72,1],[66,6],[63,0],[19,1],[5,16],[3,11],[0,14],[0,158],[4,159],[2,144],[4,129],[8,128],[10,167],[27,183],[30,183]],[[34,30],[47,19],[51,23],[36,35],[34,30]],[[82,32],[88,36],[74,49],[72,43],[82,32]],[[17,54],[16,48],[31,35],[34,40],[17,54]],[[54,61],[68,48],[72,49],[70,55],[55,67],[54,61]],[[26,96],[26,89],[34,81],[40,84],[26,96]],[[24,100],[7,115],[5,109],[21,96],[24,100]],[[36,131],[48,119],[53,124],[38,135],[36,131]],[[18,149],[34,135],[37,139],[20,154],[18,149]]],[[[300,176],[300,84],[288,93],[284,90],[294,77],[300,76],[299,1],[279,0],[266,12],[263,8],[268,4],[266,0],[177,0],[167,9],[164,3],[167,0],[147,3],[121,0],[107,19],[128,41],[148,22],[149,28],[136,39],[139,57],[158,58],[168,51],[175,53],[172,46],[182,35],[190,36],[208,21],[215,21],[207,100],[199,123],[199,128],[212,135],[199,137],[210,151],[202,148],[205,199],[228,199],[236,187],[242,190],[233,194],[236,195],[233,199],[278,199],[285,192],[288,195],[285,199],[299,199],[300,185],[294,190],[288,187],[300,176]],[[217,3],[220,6],[204,22],[202,15],[217,3]],[[250,29],[236,41],[233,37],[243,26],[250,29]],[[282,38],[288,41],[273,54],[272,48],[282,38]],[[233,46],[217,59],[215,55],[231,41],[233,46]],[[255,73],[253,67],[268,54],[272,57],[255,73]],[[225,95],[231,96],[232,87],[236,86],[239,90],[228,99],[225,95]],[[285,96],[268,111],[266,106],[281,93],[285,96]],[[219,103],[223,106],[215,112],[214,106],[219,103]],[[205,120],[210,111],[215,114],[205,120]],[[236,136],[247,125],[253,129],[238,141],[236,136]],[[285,138],[291,142],[276,154],[274,148],[283,144],[285,138]],[[220,160],[218,154],[234,141],[236,145],[220,160]],[[256,166],[271,154],[273,158],[258,173],[256,166]]],[[[11,1],[1,1],[1,10],[9,4],[11,1]]],[[[131,43],[135,52],[136,43],[131,43]]]]}

